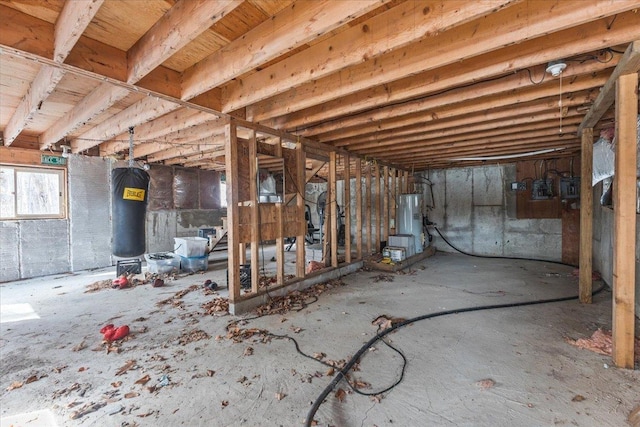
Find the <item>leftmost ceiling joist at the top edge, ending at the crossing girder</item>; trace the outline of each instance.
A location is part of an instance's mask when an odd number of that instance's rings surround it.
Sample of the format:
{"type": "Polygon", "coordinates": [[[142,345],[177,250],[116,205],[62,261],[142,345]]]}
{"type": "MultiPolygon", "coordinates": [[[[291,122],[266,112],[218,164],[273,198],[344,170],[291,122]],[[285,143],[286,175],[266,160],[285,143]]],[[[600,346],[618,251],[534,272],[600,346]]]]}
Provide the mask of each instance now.
{"type": "Polygon", "coordinates": [[[54,29],[53,60],[63,62],[104,0],[67,0],[54,29]]]}

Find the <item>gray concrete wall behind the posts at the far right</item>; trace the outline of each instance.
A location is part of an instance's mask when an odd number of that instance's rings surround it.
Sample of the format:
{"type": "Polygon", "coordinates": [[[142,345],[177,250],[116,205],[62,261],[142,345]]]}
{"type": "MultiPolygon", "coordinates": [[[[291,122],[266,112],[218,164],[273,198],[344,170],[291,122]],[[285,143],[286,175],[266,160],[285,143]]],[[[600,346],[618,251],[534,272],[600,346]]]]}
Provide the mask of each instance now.
{"type": "MultiPolygon", "coordinates": [[[[600,206],[602,184],[593,194],[593,269],[613,286],[613,209],[600,206]]],[[[640,317],[640,215],[636,215],[636,316],[640,317]]]]}

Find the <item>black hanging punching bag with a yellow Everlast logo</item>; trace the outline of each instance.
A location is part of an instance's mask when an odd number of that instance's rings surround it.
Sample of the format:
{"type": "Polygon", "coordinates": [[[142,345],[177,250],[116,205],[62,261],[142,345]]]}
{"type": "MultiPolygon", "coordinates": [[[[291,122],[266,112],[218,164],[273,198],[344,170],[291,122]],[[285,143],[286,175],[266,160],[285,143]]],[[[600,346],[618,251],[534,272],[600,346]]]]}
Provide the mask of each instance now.
{"type": "Polygon", "coordinates": [[[112,252],[119,257],[136,257],[145,249],[145,216],[149,174],[137,168],[111,171],[113,188],[112,252]]]}

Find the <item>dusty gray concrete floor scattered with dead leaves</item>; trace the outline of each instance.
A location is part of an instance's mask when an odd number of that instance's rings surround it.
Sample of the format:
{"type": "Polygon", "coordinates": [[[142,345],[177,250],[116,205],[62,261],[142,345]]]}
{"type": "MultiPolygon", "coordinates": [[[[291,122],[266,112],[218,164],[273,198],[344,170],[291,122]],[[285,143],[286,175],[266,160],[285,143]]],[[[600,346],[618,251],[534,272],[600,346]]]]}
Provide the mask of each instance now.
{"type": "MultiPolygon", "coordinates": [[[[203,315],[201,304],[214,296],[202,290],[183,298],[184,310],[156,305],[207,278],[225,283],[225,268],[212,262],[207,273],[163,288],[84,293],[86,285],[112,278],[114,268],[0,286],[0,424],[303,425],[311,403],[331,381],[326,367],[298,355],[285,340],[216,340],[233,318],[203,315]],[[11,321],[10,305],[29,308],[14,304],[29,304],[33,313],[11,321]],[[100,347],[99,329],[107,323],[131,327],[132,337],[120,353],[107,354],[100,347]],[[180,344],[192,330],[211,338],[180,344]],[[86,348],[73,350],[83,342],[86,348]],[[116,375],[130,360],[133,369],[116,375]],[[145,375],[149,382],[136,384],[145,375]],[[160,387],[163,375],[168,384],[160,387]],[[37,380],[26,383],[30,377],[37,380]],[[8,391],[16,381],[24,384],[8,391]],[[153,392],[150,386],[156,386],[153,392]],[[91,403],[104,406],[71,419],[91,403]],[[15,422],[19,414],[30,422],[15,422]]],[[[251,320],[245,327],[290,334],[306,353],[339,360],[375,335],[371,322],[382,314],[410,318],[572,295],[577,279],[570,273],[554,264],[438,253],[409,274],[387,275],[392,281],[379,280],[381,273],[374,271],[347,276],[346,286],[333,287],[304,310],[251,320]]],[[[340,402],[332,393],[315,419],[321,426],[627,425],[630,410],[640,403],[640,372],[613,368],[609,357],[565,341],[599,327],[611,327],[608,291],[592,305],[569,301],[414,323],[389,335],[408,359],[396,388],[379,402],[350,393],[340,402]],[[483,380],[495,384],[484,388],[483,380]]],[[[391,384],[400,366],[400,357],[379,343],[354,375],[371,384],[365,391],[374,391],[391,384]]],[[[348,390],[344,383],[339,387],[348,390]]]]}

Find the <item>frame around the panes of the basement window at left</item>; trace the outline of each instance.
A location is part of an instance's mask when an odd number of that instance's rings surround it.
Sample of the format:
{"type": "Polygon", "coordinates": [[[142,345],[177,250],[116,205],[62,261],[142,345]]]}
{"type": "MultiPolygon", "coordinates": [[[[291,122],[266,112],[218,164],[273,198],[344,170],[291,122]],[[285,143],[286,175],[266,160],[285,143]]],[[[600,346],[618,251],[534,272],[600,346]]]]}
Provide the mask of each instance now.
{"type": "Polygon", "coordinates": [[[67,169],[60,167],[47,167],[23,164],[0,163],[0,168],[13,170],[13,203],[14,215],[11,217],[0,216],[0,221],[20,221],[20,220],[43,220],[43,219],[67,219],[68,207],[68,191],[67,191],[67,169]],[[18,214],[18,173],[46,173],[58,177],[58,206],[57,214],[18,214]]]}

